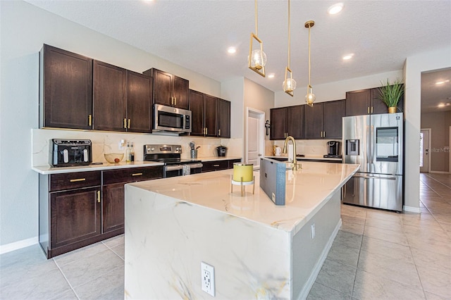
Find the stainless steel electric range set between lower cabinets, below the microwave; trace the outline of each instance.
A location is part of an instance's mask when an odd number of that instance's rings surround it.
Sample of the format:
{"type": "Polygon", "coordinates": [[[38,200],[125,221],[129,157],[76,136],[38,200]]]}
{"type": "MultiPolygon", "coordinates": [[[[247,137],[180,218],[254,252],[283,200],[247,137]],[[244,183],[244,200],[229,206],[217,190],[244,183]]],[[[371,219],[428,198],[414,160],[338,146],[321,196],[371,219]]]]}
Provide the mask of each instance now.
{"type": "Polygon", "coordinates": [[[164,163],[163,177],[175,177],[202,172],[202,161],[180,158],[181,145],[144,145],[144,161],[164,163]]]}

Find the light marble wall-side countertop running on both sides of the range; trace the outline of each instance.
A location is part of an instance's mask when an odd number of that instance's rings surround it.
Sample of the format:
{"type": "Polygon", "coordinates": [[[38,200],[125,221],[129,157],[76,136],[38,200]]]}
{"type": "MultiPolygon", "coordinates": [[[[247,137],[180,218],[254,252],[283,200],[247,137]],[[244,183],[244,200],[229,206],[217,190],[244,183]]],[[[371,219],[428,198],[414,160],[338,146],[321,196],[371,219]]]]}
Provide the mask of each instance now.
{"type": "MultiPolygon", "coordinates": [[[[190,158],[184,158],[190,159],[190,158]]],[[[193,161],[226,161],[230,159],[241,159],[241,157],[235,156],[224,156],[224,157],[199,157],[193,158],[193,161]]],[[[51,167],[50,165],[39,165],[32,167],[37,173],[47,175],[47,174],[61,174],[61,173],[72,173],[72,172],[87,172],[96,170],[111,170],[111,169],[121,169],[121,168],[138,168],[138,167],[149,167],[152,165],[163,165],[163,163],[156,163],[154,161],[135,161],[133,163],[102,163],[95,165],[80,165],[78,167],[51,167]]]]}

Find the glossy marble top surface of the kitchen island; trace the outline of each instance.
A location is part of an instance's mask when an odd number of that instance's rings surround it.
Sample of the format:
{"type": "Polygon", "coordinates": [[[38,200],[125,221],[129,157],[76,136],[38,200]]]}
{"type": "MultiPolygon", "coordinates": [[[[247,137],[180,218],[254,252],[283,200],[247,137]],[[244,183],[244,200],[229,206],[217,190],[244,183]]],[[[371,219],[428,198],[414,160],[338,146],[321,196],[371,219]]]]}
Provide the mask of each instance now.
{"type": "Polygon", "coordinates": [[[287,170],[285,206],[273,204],[260,188],[258,170],[254,171],[255,194],[252,194],[252,185],[248,185],[245,196],[240,196],[240,186],[233,186],[233,193],[230,193],[233,169],[129,185],[295,235],[333,194],[340,192],[358,168],[359,165],[345,163],[307,161],[302,163],[300,170],[287,170]]]}

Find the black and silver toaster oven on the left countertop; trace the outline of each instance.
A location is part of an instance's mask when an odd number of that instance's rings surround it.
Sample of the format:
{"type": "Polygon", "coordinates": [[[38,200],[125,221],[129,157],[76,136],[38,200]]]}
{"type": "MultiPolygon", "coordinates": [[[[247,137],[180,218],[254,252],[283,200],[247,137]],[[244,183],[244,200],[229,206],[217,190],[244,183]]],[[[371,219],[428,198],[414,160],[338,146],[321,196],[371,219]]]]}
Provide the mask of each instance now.
{"type": "Polygon", "coordinates": [[[89,139],[51,139],[50,165],[73,167],[92,163],[92,143],[89,139]]]}

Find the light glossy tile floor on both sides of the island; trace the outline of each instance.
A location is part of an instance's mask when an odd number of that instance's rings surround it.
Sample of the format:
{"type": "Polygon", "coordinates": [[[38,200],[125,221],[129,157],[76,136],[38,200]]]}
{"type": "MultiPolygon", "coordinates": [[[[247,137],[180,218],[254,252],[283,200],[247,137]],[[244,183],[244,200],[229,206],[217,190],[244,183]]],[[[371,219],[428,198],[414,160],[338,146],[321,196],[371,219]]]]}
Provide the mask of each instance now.
{"type": "MultiPolygon", "coordinates": [[[[407,187],[408,188],[408,187],[407,187]]],[[[421,174],[421,214],[342,206],[307,299],[451,299],[451,175],[421,174]]],[[[47,260],[0,256],[0,299],[123,299],[123,235],[47,260]]]]}

